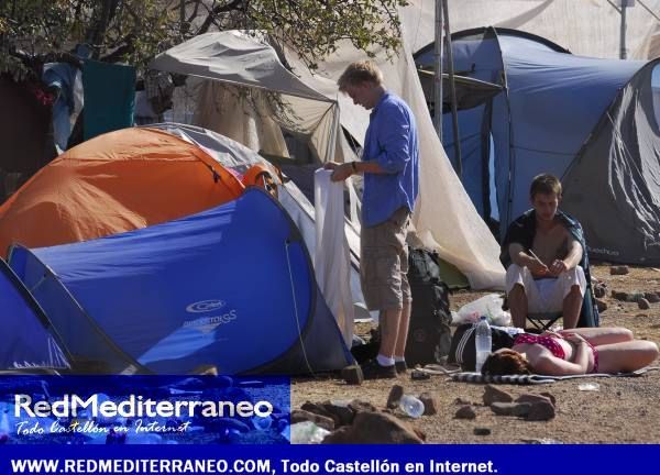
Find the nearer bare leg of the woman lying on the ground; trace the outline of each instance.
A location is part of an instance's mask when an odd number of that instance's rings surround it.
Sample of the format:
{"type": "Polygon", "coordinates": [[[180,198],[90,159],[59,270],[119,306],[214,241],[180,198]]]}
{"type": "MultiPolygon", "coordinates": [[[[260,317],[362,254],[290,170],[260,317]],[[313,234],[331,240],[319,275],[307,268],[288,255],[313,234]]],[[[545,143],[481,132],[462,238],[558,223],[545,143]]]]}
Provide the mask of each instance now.
{"type": "Polygon", "coordinates": [[[658,345],[650,341],[634,340],[601,345],[598,373],[629,373],[651,364],[658,357],[658,345]]]}

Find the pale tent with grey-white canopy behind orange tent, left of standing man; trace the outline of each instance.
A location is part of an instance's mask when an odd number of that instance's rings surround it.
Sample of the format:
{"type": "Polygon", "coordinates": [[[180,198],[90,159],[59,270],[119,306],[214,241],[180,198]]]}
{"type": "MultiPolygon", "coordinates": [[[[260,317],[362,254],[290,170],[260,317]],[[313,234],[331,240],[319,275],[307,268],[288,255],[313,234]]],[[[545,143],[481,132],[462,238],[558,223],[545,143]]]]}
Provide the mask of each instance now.
{"type": "Polygon", "coordinates": [[[254,151],[287,157],[282,128],[307,136],[319,162],[334,157],[337,148],[343,156],[346,146],[338,142],[337,101],[289,73],[260,36],[240,31],[206,33],[160,54],[150,67],[209,79],[191,88],[198,104],[196,125],[254,151]],[[280,96],[275,99],[273,92],[280,96]]]}

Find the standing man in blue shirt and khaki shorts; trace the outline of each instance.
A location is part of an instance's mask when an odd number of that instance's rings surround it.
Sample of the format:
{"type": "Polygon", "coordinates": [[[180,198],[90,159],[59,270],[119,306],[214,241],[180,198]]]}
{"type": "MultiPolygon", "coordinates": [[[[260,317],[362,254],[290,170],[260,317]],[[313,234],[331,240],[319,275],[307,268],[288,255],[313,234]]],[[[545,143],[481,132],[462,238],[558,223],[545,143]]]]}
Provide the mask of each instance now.
{"type": "Polygon", "coordinates": [[[333,181],[364,174],[360,274],[367,308],[380,311],[381,347],[362,371],[367,379],[394,378],[407,369],[413,299],[406,236],[419,191],[417,126],[410,108],[385,89],[373,63],[352,63],[338,85],[353,103],[372,110],[362,162],[326,165],[333,181]]]}

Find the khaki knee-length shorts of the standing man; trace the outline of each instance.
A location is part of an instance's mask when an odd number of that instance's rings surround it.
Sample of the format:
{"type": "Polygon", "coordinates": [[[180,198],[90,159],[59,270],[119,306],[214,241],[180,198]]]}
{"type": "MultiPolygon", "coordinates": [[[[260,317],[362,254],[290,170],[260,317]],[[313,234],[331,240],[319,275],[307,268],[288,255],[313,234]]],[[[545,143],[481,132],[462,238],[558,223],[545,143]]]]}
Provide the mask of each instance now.
{"type": "Polygon", "coordinates": [[[396,210],[387,221],[360,234],[360,280],[370,310],[402,309],[413,300],[408,285],[408,246],[410,223],[407,207],[396,210]]]}

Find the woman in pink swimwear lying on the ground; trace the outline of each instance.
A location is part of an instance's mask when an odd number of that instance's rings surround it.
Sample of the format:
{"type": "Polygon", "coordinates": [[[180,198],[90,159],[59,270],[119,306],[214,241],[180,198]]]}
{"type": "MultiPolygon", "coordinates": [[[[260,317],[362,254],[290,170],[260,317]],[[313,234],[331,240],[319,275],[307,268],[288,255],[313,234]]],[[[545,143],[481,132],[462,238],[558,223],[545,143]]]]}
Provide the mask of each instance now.
{"type": "Polygon", "coordinates": [[[587,373],[628,373],[658,357],[658,345],[635,340],[625,328],[583,328],[520,333],[514,346],[487,357],[482,374],[542,374],[553,376],[587,373]]]}

